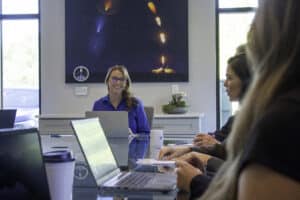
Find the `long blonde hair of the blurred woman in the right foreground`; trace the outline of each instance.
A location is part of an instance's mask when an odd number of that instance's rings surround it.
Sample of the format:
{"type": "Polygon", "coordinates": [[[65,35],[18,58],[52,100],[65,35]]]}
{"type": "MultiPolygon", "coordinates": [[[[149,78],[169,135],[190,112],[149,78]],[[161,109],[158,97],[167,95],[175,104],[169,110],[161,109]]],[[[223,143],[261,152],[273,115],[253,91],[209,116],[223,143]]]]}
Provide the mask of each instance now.
{"type": "Polygon", "coordinates": [[[237,198],[240,157],[251,128],[278,96],[299,84],[299,10],[298,0],[259,1],[246,48],[254,78],[227,141],[227,160],[201,200],[237,198]]]}

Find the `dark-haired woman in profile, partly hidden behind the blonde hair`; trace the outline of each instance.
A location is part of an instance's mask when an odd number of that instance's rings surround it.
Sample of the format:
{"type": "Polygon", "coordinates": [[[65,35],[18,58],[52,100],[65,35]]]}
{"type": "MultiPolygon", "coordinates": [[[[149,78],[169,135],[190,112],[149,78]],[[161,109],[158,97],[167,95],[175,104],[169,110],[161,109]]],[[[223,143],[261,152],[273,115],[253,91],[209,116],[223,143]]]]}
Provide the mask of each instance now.
{"type": "MultiPolygon", "coordinates": [[[[224,87],[230,101],[242,101],[246,90],[251,82],[252,73],[244,53],[235,55],[228,59],[226,80],[224,87]]],[[[173,159],[190,151],[197,151],[225,159],[226,151],[224,140],[231,131],[234,116],[231,116],[225,125],[213,133],[200,133],[194,138],[193,147],[163,147],[159,158],[173,159]],[[165,155],[168,155],[167,157],[165,155]]]]}

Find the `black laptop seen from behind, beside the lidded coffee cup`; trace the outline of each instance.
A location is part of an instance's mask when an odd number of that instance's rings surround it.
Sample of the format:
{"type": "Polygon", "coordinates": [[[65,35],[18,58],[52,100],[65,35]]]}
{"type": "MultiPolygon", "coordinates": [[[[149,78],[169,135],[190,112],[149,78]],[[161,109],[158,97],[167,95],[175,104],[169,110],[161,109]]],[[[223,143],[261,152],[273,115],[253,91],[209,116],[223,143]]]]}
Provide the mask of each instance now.
{"type": "Polygon", "coordinates": [[[0,133],[0,199],[50,200],[38,130],[0,133]]]}

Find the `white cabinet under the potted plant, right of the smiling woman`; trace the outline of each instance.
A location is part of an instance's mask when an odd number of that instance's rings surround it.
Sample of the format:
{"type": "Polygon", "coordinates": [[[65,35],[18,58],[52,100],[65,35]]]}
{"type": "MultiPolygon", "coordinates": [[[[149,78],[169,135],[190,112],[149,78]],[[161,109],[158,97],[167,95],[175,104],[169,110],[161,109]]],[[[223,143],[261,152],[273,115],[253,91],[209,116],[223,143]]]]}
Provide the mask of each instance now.
{"type": "Polygon", "coordinates": [[[154,115],[152,129],[163,129],[165,139],[191,140],[205,131],[204,113],[154,115]]]}

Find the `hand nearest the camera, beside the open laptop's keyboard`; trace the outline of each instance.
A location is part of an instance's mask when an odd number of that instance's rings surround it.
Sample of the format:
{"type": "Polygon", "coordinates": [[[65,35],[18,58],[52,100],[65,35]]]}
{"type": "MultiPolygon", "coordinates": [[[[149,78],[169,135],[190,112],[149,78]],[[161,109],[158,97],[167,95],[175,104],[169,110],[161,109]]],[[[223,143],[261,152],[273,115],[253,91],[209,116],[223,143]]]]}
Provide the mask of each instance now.
{"type": "Polygon", "coordinates": [[[180,190],[190,192],[192,179],[197,175],[203,174],[203,172],[183,160],[176,160],[176,166],[177,168],[175,171],[177,173],[177,187],[180,190]]]}

